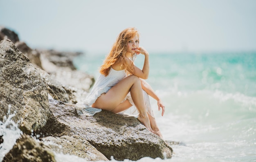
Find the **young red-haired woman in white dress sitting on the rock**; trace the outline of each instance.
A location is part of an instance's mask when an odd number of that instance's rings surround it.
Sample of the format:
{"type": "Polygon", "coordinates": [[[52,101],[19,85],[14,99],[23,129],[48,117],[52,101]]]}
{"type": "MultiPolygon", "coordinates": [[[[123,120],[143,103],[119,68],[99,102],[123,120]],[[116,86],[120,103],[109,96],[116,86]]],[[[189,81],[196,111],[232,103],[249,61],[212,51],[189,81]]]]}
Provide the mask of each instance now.
{"type": "Polygon", "coordinates": [[[154,93],[149,84],[144,81],[149,74],[149,54],[143,47],[139,47],[139,33],[135,28],[124,29],[117,37],[110,53],[107,55],[100,68],[101,75],[96,80],[92,91],[83,104],[76,104],[76,111],[79,115],[93,115],[97,109],[119,113],[134,105],[139,114],[137,119],[146,128],[162,138],[155,118],[145,107],[145,95],[151,95],[157,100],[158,109],[164,105],[154,93]],[[141,53],[145,56],[144,66],[139,69],[134,65],[134,58],[141,53]],[[128,74],[128,75],[127,75],[128,74]],[[90,108],[89,106],[93,107],[90,108]]]}

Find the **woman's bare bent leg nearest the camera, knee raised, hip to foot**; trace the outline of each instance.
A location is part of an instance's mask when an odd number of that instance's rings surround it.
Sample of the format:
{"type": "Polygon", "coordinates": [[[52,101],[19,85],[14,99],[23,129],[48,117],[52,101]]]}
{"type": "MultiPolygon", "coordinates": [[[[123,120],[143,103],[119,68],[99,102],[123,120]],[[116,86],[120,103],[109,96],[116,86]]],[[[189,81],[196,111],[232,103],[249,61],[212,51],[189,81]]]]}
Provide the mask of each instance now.
{"type": "Polygon", "coordinates": [[[141,82],[135,75],[129,75],[118,82],[107,93],[101,94],[95,103],[92,104],[92,107],[118,112],[118,105],[124,100],[129,91],[131,93],[132,100],[139,111],[138,120],[152,132],[148,114],[144,105],[141,82]]]}

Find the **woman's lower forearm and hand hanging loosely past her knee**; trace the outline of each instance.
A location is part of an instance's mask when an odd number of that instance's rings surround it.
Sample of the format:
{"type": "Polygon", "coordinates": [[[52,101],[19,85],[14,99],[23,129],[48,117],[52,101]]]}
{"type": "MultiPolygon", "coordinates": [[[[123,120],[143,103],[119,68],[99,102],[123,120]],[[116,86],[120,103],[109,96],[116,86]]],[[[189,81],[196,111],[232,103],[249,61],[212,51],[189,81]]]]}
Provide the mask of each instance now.
{"type": "Polygon", "coordinates": [[[162,104],[162,101],[160,98],[157,96],[153,88],[143,79],[140,79],[141,82],[141,88],[148,93],[152,98],[157,100],[157,106],[158,106],[158,111],[160,111],[160,108],[162,108],[162,116],[164,115],[165,111],[165,106],[162,104]]]}

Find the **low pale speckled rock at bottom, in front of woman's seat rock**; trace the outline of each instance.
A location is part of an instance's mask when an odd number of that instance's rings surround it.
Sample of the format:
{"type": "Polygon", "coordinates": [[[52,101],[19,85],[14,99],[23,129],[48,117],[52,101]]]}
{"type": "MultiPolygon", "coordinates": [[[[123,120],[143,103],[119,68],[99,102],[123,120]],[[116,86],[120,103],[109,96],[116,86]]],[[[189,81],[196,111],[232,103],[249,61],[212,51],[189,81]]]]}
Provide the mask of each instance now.
{"type": "Polygon", "coordinates": [[[56,153],[76,155],[87,161],[108,161],[101,152],[79,136],[61,136],[60,138],[48,136],[40,140],[56,153]]]}

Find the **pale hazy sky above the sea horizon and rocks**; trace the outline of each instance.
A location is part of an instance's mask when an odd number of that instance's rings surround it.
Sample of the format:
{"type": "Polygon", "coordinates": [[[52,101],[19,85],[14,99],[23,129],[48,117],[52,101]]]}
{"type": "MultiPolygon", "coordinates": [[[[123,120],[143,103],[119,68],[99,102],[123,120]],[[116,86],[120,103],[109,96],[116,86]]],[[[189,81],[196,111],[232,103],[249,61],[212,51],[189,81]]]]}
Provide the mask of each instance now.
{"type": "Polygon", "coordinates": [[[32,48],[108,52],[136,27],[148,51],[256,51],[256,0],[0,0],[32,48]]]}

